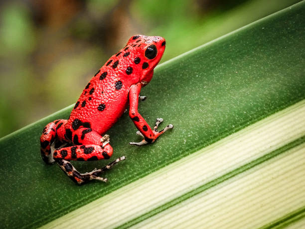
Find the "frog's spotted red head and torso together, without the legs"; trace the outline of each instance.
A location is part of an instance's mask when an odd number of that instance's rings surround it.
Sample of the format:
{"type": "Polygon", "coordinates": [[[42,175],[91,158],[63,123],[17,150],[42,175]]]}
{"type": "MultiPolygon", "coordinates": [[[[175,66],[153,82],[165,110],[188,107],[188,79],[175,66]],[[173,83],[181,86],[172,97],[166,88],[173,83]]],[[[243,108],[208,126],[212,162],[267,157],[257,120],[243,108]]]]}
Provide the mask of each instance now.
{"type": "Polygon", "coordinates": [[[80,127],[90,127],[104,134],[124,113],[131,85],[141,83],[145,86],[152,79],[153,68],[159,62],[164,48],[165,40],[162,37],[131,37],[127,45],[113,55],[90,80],[65,128],[73,132],[80,127]],[[157,43],[161,43],[161,55],[154,58],[157,43]]]}

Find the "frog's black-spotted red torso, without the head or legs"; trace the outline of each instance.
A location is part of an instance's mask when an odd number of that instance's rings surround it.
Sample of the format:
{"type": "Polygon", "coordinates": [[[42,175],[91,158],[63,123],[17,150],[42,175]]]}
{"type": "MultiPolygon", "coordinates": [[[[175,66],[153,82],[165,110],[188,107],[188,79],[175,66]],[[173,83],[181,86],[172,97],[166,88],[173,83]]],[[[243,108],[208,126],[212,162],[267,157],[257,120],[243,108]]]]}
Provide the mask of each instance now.
{"type": "Polygon", "coordinates": [[[133,66],[136,56],[124,49],[126,47],[113,55],[87,84],[70,114],[66,128],[73,131],[84,126],[103,134],[124,113],[129,88],[138,83],[141,75],[141,70],[133,66]],[[73,122],[77,123],[76,127],[73,122]]]}

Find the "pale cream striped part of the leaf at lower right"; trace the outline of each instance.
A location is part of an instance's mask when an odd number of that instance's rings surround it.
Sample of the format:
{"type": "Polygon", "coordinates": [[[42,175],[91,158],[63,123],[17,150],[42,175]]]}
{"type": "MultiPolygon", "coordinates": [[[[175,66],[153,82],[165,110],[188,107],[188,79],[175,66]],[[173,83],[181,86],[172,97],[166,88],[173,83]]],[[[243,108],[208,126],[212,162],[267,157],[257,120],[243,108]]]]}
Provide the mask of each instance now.
{"type": "MultiPolygon", "coordinates": [[[[303,157],[304,153],[302,154],[302,149],[299,149],[300,147],[295,147],[292,151],[296,151],[296,149],[299,150],[288,154],[288,156],[283,156],[286,155],[285,153],[279,157],[281,159],[272,159],[275,160],[275,162],[266,162],[269,163],[266,167],[264,164],[258,165],[256,168],[252,169],[256,172],[253,172],[252,170],[251,172],[246,171],[238,176],[235,176],[234,178],[231,178],[230,180],[212,187],[211,189],[207,189],[204,192],[197,194],[191,199],[188,199],[186,194],[192,191],[196,191],[196,189],[204,186],[208,182],[219,179],[219,177],[225,176],[227,173],[230,173],[233,170],[237,170],[241,166],[244,166],[251,161],[255,161],[258,158],[261,158],[264,155],[267,155],[291,143],[292,141],[300,139],[304,135],[305,101],[301,101],[219,142],[216,142],[209,147],[203,148],[191,154],[190,156],[172,163],[167,167],[144,177],[143,179],[133,182],[107,196],[104,196],[53,222],[50,222],[44,227],[49,228],[60,226],[62,228],[114,228],[119,227],[127,222],[130,222],[130,224],[126,224],[125,226],[131,226],[134,223],[137,223],[137,221],[133,222],[134,219],[145,219],[145,215],[148,214],[147,216],[150,216],[149,214],[152,210],[160,208],[160,206],[165,204],[170,204],[172,200],[177,198],[181,198],[181,200],[184,201],[181,203],[181,207],[176,205],[166,211],[161,211],[158,215],[156,215],[156,218],[158,218],[157,216],[164,217],[162,218],[164,221],[160,220],[161,223],[163,222],[166,224],[165,219],[167,219],[167,214],[171,214],[174,209],[175,211],[179,211],[182,209],[183,205],[188,204],[192,207],[190,209],[184,209],[184,211],[186,211],[184,213],[195,211],[194,213],[186,214],[190,221],[193,221],[193,223],[196,223],[198,226],[200,226],[202,223],[200,219],[209,217],[208,219],[210,221],[208,222],[213,225],[212,219],[215,214],[218,213],[221,215],[226,213],[235,216],[237,212],[234,213],[234,210],[231,209],[235,208],[235,206],[232,207],[232,205],[236,205],[236,208],[238,208],[238,204],[242,203],[242,201],[245,203],[249,202],[253,204],[246,208],[245,204],[241,205],[240,208],[243,208],[241,211],[246,211],[251,206],[255,206],[255,203],[262,203],[261,211],[257,212],[257,214],[261,215],[258,216],[263,217],[267,214],[268,218],[270,218],[269,220],[271,220],[271,210],[278,210],[277,206],[275,209],[269,209],[268,200],[264,199],[266,202],[264,202],[263,199],[259,200],[260,196],[263,194],[270,194],[270,198],[273,198],[277,195],[282,195],[282,191],[287,192],[288,195],[285,196],[286,199],[284,198],[280,201],[283,201],[283,203],[284,201],[292,203],[294,208],[298,206],[298,204],[295,203],[297,200],[295,197],[301,199],[304,198],[304,194],[302,193],[293,193],[294,190],[296,190],[296,185],[298,185],[298,183],[300,186],[300,189],[298,190],[303,190],[302,184],[304,184],[304,181],[302,179],[305,178],[305,176],[303,176],[303,178],[299,178],[298,180],[298,177],[295,177],[297,173],[300,173],[299,175],[302,177],[301,173],[305,172],[303,166],[305,164],[305,158],[303,157]],[[268,171],[273,171],[273,173],[270,174],[268,171]],[[282,171],[286,172],[282,174],[282,171]],[[287,174],[289,174],[289,176],[287,174]],[[293,177],[293,180],[290,182],[289,178],[291,176],[293,177]],[[268,179],[270,182],[267,182],[269,181],[268,179]],[[294,183],[296,181],[297,183],[294,183]],[[244,187],[238,186],[239,184],[248,185],[244,187]],[[249,187],[251,187],[251,189],[248,190],[247,188],[249,187]],[[263,190],[266,193],[259,194],[260,190],[263,190]],[[277,190],[277,194],[272,193],[274,190],[277,190]],[[226,192],[226,195],[221,196],[223,192],[226,192]],[[240,192],[240,195],[236,196],[238,192],[240,192]],[[208,193],[210,193],[211,196],[214,195],[214,198],[204,199],[208,193]],[[244,193],[246,196],[241,195],[244,193]],[[290,195],[292,193],[294,195],[290,195]],[[235,196],[238,199],[233,198],[235,196]],[[194,199],[198,199],[198,201],[192,202],[194,199]],[[199,205],[201,199],[204,200],[202,204],[203,206],[200,208],[193,207],[192,204],[194,204],[194,206],[197,204],[199,205]],[[214,207],[212,208],[212,206],[214,207]],[[217,206],[221,211],[214,211],[217,206]],[[213,211],[205,212],[205,214],[202,215],[203,213],[200,212],[200,209],[203,207],[207,208],[206,211],[211,207],[211,210],[213,211]],[[267,213],[266,211],[271,212],[267,213]],[[143,217],[139,218],[141,216],[143,217]],[[86,219],[86,221],[83,219],[86,219]]],[[[280,196],[277,196],[276,198],[279,197],[280,196]]],[[[274,199],[274,201],[276,200],[277,199],[274,199]]],[[[278,203],[278,201],[279,200],[277,200],[276,203],[278,203]]],[[[301,203],[301,205],[302,204],[305,205],[305,203],[301,203]]],[[[251,211],[254,211],[255,209],[258,210],[257,206],[251,211]]],[[[290,209],[283,210],[283,214],[288,210],[290,209]]],[[[172,214],[170,222],[179,222],[172,219],[172,217],[179,217],[179,215],[180,212],[172,214]]],[[[228,218],[229,215],[223,216],[228,218]]],[[[185,216],[183,216],[183,218],[184,217],[185,216]]],[[[242,222],[252,221],[251,217],[249,217],[247,214],[241,217],[244,217],[242,222]]],[[[239,219],[241,219],[241,217],[239,217],[239,219]]],[[[147,221],[150,221],[150,219],[147,221]]],[[[156,224],[157,222],[159,221],[154,221],[153,223],[155,223],[155,226],[160,226],[156,224]]],[[[146,223],[143,222],[143,225],[146,225],[146,223]]],[[[169,223],[169,221],[167,223],[169,223]]],[[[186,223],[187,222],[184,222],[184,224],[186,223]]],[[[232,227],[242,226],[237,225],[236,222],[231,220],[228,221],[228,224],[229,223],[232,224],[232,227]]]]}

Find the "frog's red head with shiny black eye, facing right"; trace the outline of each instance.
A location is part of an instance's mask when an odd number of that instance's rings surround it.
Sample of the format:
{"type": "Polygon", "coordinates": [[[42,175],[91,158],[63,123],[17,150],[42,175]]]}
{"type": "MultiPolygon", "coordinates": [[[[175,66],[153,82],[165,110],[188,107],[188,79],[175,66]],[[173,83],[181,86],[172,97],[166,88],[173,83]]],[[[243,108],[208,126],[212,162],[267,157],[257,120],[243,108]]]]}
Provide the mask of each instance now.
{"type": "Polygon", "coordinates": [[[144,87],[151,81],[153,69],[163,55],[165,39],[161,36],[135,35],[129,39],[128,45],[139,55],[139,70],[142,71],[139,82],[144,87]]]}

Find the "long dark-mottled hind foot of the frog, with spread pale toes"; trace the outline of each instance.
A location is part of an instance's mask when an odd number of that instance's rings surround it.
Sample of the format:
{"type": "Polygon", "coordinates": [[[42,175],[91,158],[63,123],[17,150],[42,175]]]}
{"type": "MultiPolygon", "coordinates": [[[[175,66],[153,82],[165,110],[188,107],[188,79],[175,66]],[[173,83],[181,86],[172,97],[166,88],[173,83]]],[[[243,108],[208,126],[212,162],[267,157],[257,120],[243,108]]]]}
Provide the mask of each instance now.
{"type": "Polygon", "coordinates": [[[111,169],[115,164],[117,164],[118,162],[123,161],[125,159],[126,159],[125,156],[120,157],[120,158],[116,159],[115,161],[109,163],[102,169],[94,169],[91,172],[87,172],[87,173],[79,173],[74,168],[74,166],[67,160],[59,159],[59,160],[56,160],[56,162],[59,165],[59,167],[62,169],[62,171],[64,171],[72,181],[74,181],[78,185],[82,185],[82,184],[92,181],[92,180],[107,182],[108,181],[107,178],[100,177],[99,175],[102,172],[111,169]]]}

